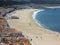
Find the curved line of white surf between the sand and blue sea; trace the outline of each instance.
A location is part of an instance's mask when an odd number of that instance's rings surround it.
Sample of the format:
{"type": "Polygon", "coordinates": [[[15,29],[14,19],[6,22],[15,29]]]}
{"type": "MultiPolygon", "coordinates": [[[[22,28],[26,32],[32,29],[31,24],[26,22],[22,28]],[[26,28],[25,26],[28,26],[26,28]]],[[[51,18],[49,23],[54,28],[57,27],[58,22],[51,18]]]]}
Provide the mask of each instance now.
{"type": "MultiPolygon", "coordinates": [[[[52,8],[48,8],[48,9],[52,9],[52,8]]],[[[53,9],[56,9],[56,7],[55,7],[55,8],[53,7],[53,9]]],[[[46,27],[45,25],[41,24],[41,23],[36,19],[37,14],[38,14],[39,12],[41,12],[41,11],[45,11],[45,8],[44,8],[44,9],[37,9],[37,11],[35,11],[35,12],[33,13],[32,18],[34,19],[35,23],[36,23],[37,25],[41,26],[42,28],[45,28],[45,29],[50,30],[50,31],[52,31],[52,32],[60,33],[60,32],[58,32],[58,31],[53,31],[53,30],[49,29],[48,27],[46,27]]]]}

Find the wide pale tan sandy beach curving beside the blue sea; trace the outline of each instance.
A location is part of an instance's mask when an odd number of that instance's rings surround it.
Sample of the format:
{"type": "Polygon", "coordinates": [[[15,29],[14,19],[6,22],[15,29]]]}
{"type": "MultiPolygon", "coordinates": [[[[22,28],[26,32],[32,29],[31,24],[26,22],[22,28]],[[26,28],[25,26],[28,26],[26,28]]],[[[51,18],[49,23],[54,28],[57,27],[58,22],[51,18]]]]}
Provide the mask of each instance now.
{"type": "Polygon", "coordinates": [[[32,18],[37,9],[22,9],[12,12],[10,15],[17,16],[19,19],[9,19],[11,28],[23,32],[28,38],[32,39],[35,45],[60,45],[60,34],[50,31],[36,24],[32,18]]]}

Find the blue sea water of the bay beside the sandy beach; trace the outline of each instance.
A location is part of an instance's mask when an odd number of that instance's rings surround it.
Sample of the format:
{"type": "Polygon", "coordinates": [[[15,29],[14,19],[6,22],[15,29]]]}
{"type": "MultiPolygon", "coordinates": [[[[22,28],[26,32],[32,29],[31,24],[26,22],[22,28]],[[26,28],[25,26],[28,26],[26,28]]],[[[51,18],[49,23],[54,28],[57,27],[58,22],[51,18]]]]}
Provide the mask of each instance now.
{"type": "Polygon", "coordinates": [[[43,27],[60,32],[60,8],[48,8],[36,14],[35,19],[43,27]]]}

